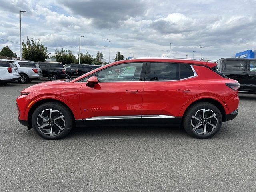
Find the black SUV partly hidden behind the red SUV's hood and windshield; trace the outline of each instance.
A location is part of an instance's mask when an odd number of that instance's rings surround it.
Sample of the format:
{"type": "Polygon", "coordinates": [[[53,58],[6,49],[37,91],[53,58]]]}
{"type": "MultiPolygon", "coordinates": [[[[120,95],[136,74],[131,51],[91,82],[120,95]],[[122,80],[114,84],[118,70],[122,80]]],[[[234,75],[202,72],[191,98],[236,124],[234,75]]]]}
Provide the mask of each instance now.
{"type": "Polygon", "coordinates": [[[80,76],[88,73],[91,70],[99,68],[100,65],[90,65],[90,64],[66,64],[66,78],[71,78],[72,76],[80,76]]]}

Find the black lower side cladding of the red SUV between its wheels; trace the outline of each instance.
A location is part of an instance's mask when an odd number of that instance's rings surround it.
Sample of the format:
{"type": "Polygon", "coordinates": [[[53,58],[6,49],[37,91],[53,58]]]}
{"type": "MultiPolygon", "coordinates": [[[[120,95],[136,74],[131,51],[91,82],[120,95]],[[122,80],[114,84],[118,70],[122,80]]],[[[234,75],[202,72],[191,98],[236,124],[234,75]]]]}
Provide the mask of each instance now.
{"type": "Polygon", "coordinates": [[[112,126],[112,125],[173,125],[179,126],[182,117],[175,118],[134,118],[134,119],[106,119],[106,120],[76,120],[76,127],[84,126],[112,126]]]}

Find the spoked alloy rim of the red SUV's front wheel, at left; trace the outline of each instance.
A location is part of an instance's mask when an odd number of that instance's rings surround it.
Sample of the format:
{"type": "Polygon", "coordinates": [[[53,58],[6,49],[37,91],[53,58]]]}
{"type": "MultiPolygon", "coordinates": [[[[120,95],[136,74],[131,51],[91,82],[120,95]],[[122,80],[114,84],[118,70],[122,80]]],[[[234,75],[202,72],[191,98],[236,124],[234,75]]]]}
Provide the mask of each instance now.
{"type": "Polygon", "coordinates": [[[43,134],[55,136],[64,130],[66,121],[61,112],[49,108],[38,115],[36,124],[43,134]]]}

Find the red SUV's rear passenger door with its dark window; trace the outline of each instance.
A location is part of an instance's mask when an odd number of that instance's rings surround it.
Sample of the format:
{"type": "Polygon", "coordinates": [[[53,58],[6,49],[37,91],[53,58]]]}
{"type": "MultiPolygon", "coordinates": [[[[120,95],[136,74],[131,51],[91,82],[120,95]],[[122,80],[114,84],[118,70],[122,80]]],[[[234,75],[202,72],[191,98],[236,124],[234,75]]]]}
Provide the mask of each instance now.
{"type": "Polygon", "coordinates": [[[179,124],[184,104],[198,93],[200,81],[190,64],[150,62],[146,67],[142,122],[179,124]]]}

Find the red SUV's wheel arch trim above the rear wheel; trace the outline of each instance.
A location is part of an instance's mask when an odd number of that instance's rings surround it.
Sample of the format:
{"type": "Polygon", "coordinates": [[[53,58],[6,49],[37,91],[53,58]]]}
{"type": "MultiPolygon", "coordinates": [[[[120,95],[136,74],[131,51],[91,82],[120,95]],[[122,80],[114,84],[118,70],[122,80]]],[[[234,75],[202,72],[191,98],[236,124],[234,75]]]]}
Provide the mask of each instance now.
{"type": "Polygon", "coordinates": [[[222,120],[224,121],[226,119],[226,114],[228,114],[228,107],[226,106],[226,103],[224,101],[221,101],[220,99],[216,98],[198,98],[194,101],[190,101],[189,103],[183,106],[182,110],[180,111],[180,116],[183,116],[192,105],[198,102],[208,102],[215,105],[222,114],[222,120]]]}

